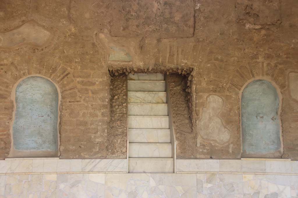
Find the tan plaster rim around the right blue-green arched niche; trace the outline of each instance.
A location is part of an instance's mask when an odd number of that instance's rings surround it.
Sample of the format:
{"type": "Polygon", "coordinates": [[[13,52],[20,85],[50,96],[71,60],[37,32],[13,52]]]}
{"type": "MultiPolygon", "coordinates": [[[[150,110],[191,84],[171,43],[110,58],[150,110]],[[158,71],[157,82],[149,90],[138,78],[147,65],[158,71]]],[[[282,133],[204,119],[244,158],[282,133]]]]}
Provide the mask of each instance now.
{"type": "Polygon", "coordinates": [[[283,155],[283,123],[281,120],[281,113],[282,113],[282,106],[283,106],[283,95],[281,94],[279,86],[271,80],[271,78],[262,76],[262,77],[256,77],[248,80],[240,89],[239,92],[239,109],[240,109],[240,141],[241,141],[241,157],[248,157],[248,158],[281,158],[283,155]],[[280,137],[280,149],[277,150],[274,153],[266,153],[266,154],[243,154],[243,140],[242,140],[242,93],[246,86],[249,83],[252,83],[255,80],[266,80],[268,81],[276,90],[276,93],[279,97],[279,105],[278,105],[278,111],[277,111],[277,116],[278,116],[278,121],[279,121],[279,137],[280,137]]]}

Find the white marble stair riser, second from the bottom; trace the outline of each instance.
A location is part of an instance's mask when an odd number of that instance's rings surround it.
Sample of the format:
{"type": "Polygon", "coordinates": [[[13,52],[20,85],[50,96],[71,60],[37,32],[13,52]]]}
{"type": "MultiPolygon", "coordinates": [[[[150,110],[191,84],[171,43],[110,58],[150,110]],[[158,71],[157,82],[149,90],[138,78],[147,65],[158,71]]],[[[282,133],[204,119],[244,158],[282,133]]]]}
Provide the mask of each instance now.
{"type": "Polygon", "coordinates": [[[172,157],[171,143],[129,143],[128,157],[172,157]]]}

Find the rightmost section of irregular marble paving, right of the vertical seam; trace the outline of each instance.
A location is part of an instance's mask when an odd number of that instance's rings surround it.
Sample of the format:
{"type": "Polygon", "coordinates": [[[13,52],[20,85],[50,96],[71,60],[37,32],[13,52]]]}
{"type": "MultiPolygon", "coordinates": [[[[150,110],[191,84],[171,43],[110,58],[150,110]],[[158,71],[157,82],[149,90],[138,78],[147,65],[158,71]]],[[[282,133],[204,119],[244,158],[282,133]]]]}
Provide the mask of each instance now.
{"type": "Polygon", "coordinates": [[[197,197],[297,197],[298,176],[197,174],[197,197]]]}

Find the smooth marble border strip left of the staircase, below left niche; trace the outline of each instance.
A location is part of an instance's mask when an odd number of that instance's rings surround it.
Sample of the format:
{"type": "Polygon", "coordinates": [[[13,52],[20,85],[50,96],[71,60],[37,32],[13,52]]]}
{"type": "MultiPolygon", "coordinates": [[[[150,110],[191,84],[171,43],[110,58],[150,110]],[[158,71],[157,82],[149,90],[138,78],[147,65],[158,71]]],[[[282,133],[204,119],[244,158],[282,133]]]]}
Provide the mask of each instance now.
{"type": "Polygon", "coordinates": [[[0,160],[0,174],[125,172],[126,159],[11,159],[0,160]]]}

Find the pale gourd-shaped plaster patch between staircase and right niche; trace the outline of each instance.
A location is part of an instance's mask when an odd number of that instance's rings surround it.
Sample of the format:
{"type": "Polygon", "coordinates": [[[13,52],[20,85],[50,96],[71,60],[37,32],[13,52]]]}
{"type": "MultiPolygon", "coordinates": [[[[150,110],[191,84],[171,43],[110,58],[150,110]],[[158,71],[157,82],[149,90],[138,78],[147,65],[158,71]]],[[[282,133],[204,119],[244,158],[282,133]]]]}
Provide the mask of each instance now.
{"type": "MultiPolygon", "coordinates": [[[[214,140],[218,144],[225,144],[231,137],[231,132],[224,126],[219,113],[224,107],[223,99],[215,94],[207,96],[206,106],[202,110],[202,117],[197,121],[197,132],[204,139],[214,140]]],[[[199,141],[199,136],[197,137],[199,141]]]]}

